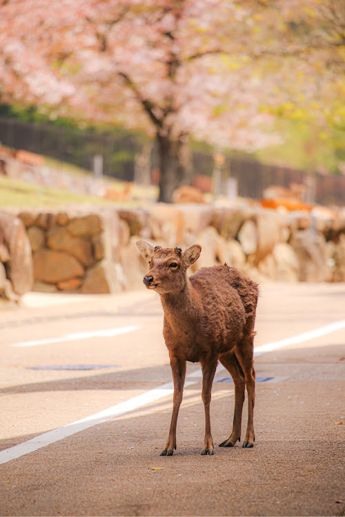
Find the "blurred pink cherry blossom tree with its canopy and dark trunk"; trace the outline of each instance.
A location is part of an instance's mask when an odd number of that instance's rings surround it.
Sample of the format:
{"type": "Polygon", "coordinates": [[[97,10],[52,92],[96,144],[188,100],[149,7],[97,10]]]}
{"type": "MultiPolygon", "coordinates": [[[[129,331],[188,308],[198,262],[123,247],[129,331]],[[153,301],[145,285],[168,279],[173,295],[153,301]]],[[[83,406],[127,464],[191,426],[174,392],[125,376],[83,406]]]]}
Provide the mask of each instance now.
{"type": "Polygon", "coordinates": [[[253,151],[279,141],[268,130],[279,110],[314,105],[326,119],[344,84],[341,5],[3,0],[0,98],[145,130],[159,150],[159,200],[171,201],[190,136],[253,151]]]}

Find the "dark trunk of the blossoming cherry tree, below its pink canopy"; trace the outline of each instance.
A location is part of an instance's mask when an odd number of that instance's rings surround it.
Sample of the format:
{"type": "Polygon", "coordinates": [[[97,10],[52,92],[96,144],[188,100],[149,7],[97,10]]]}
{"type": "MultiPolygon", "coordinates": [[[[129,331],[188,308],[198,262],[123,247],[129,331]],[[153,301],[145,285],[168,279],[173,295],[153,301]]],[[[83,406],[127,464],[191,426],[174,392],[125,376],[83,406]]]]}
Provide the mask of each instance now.
{"type": "Polygon", "coordinates": [[[177,140],[170,134],[157,132],[159,154],[159,197],[158,201],[172,203],[172,194],[180,185],[191,181],[191,155],[188,135],[181,134],[177,140]]]}

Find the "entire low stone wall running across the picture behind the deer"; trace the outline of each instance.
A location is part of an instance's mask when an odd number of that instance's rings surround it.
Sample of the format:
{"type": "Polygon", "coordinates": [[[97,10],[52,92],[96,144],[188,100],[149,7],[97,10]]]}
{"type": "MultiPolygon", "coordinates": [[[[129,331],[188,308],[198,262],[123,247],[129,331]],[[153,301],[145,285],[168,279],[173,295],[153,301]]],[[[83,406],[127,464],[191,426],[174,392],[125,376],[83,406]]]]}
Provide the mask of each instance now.
{"type": "Polygon", "coordinates": [[[0,296],[140,288],[147,265],[138,239],[182,248],[199,243],[192,271],[226,262],[259,282],[345,281],[344,211],[152,204],[0,214],[0,296]]]}

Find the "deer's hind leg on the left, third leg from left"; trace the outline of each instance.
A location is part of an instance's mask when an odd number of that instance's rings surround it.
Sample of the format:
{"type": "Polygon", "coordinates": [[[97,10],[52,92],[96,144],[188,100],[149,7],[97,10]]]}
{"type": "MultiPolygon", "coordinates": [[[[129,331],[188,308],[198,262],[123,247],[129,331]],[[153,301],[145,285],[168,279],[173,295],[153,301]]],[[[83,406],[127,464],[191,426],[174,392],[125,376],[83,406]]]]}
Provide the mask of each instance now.
{"type": "Polygon", "coordinates": [[[244,403],[244,373],[237,357],[233,351],[222,354],[219,357],[221,364],[226,367],[229,374],[233,377],[235,384],[235,411],[233,419],[233,430],[224,442],[219,443],[219,447],[233,447],[237,440],[241,441],[242,409],[244,403]]]}

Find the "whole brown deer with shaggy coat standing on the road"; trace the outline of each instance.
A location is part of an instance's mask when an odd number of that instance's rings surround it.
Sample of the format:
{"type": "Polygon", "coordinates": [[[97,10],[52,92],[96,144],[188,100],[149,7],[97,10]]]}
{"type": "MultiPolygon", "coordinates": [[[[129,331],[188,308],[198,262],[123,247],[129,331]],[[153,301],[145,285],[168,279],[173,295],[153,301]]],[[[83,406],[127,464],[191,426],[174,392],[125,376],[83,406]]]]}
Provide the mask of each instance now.
{"type": "Polygon", "coordinates": [[[219,447],[234,447],[237,440],[241,441],[245,388],[248,394],[248,423],[242,447],[253,447],[253,347],[259,295],[257,283],[226,263],[201,267],[188,276],[188,267],[199,259],[199,244],[188,247],[184,252],[179,246],[153,247],[145,241],[137,241],[137,247],[149,266],[143,279],[144,285],[161,298],[163,335],[174,385],[170,430],[161,456],[172,456],[177,448],[177,417],[184,392],[187,361],[200,363],[202,371],[205,435],[201,456],[214,454],[210,400],[218,362],[228,370],[235,385],[233,429],[219,447]]]}

